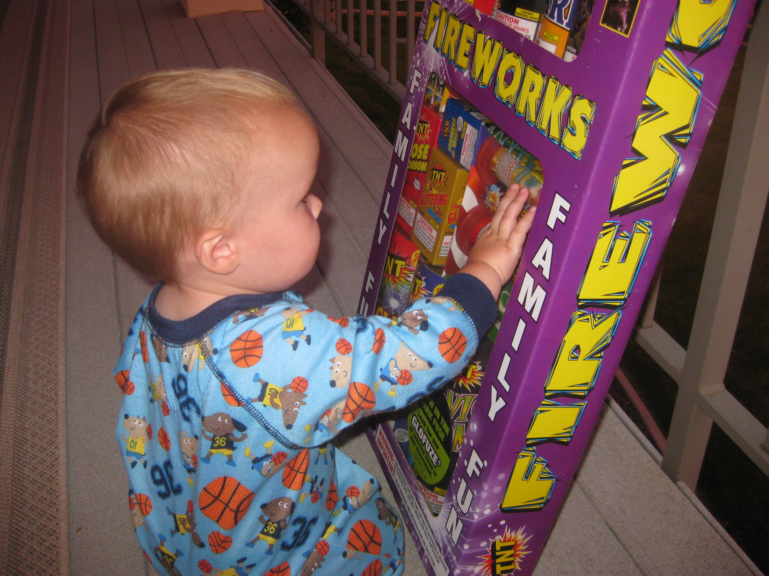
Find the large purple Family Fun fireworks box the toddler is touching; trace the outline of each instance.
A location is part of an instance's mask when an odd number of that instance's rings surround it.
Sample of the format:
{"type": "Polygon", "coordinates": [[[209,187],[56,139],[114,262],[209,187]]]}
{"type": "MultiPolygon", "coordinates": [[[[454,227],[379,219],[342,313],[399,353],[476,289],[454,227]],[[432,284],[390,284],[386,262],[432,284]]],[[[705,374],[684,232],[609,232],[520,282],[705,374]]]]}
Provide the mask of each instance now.
{"type": "MultiPolygon", "coordinates": [[[[500,22],[542,9],[511,0],[491,18],[425,2],[361,286],[361,314],[400,314],[404,341],[427,336],[405,306],[430,316],[501,197],[529,188],[537,212],[504,316],[458,378],[367,431],[429,576],[534,572],[707,136],[702,104],[721,98],[754,1],[548,0],[536,42],[500,22]],[[424,105],[444,114],[441,137],[418,223],[399,236],[424,105]],[[439,158],[438,182],[450,163],[466,179],[440,213],[428,204],[439,158]]],[[[578,541],[557,554],[580,557],[578,541]]]]}

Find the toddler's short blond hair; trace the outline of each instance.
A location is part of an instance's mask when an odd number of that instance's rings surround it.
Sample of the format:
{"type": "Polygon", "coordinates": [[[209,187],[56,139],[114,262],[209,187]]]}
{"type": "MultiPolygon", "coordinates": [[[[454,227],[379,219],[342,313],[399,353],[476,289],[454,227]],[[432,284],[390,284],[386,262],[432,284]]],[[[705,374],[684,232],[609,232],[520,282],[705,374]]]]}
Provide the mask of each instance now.
{"type": "Polygon", "coordinates": [[[88,134],[76,194],[96,233],[128,264],[178,280],[178,256],[238,213],[260,114],[290,108],[288,89],[248,70],[148,74],[109,98],[88,134]]]}

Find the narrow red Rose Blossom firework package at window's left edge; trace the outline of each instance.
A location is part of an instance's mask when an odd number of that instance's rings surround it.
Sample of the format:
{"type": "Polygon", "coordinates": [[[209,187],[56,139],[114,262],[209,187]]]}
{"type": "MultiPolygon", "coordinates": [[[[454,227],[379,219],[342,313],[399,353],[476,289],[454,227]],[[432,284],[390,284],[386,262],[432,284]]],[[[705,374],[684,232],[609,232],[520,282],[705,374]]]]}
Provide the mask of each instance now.
{"type": "Polygon", "coordinates": [[[411,145],[408,171],[403,183],[403,194],[401,194],[401,200],[398,202],[398,225],[409,234],[414,228],[414,218],[419,207],[419,197],[422,190],[424,190],[424,179],[428,170],[430,151],[438,142],[438,132],[440,130],[441,113],[425,104],[419,113],[419,121],[414,134],[414,144],[411,145]]]}

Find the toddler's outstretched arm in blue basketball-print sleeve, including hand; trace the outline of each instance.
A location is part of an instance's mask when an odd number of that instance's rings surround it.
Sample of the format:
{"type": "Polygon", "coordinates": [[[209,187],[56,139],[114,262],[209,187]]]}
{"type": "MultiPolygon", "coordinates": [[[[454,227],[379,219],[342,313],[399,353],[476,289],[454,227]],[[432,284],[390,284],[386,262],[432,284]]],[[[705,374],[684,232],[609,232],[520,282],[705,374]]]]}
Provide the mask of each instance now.
{"type": "Polygon", "coordinates": [[[424,326],[416,334],[381,316],[334,320],[281,300],[261,318],[222,325],[228,336],[215,343],[217,377],[291,449],[321,445],[366,415],[401,409],[441,388],[474,354],[497,316],[501,285],[518,264],[533,214],[516,222],[528,197],[525,190],[516,192],[511,187],[502,200],[461,273],[446,281],[439,296],[418,300],[401,316],[418,311],[424,326]],[[288,310],[306,313],[301,330],[285,330],[288,310]],[[243,346],[235,338],[263,340],[258,363],[235,363],[243,346]]]}

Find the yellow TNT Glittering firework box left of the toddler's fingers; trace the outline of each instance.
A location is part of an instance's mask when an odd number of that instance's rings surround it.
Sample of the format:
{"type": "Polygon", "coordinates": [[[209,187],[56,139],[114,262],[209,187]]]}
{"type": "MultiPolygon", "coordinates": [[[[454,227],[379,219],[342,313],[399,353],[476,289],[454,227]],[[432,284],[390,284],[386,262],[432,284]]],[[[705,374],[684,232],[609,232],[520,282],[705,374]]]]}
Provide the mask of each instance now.
{"type": "Polygon", "coordinates": [[[434,147],[411,232],[411,241],[431,264],[444,266],[446,263],[467,184],[468,170],[434,147]]]}

